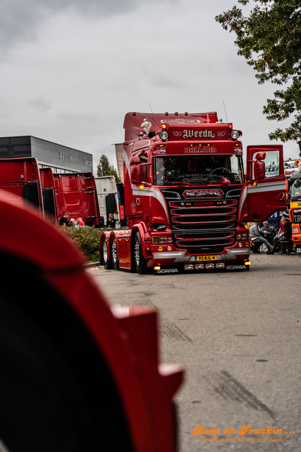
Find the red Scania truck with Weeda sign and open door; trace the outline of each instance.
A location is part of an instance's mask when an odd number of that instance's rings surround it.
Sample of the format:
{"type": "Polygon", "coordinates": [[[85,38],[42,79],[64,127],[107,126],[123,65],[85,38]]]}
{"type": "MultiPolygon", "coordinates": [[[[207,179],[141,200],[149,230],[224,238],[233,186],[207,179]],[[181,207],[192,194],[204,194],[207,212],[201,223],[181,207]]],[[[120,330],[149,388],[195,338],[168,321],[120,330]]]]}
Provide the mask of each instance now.
{"type": "Polygon", "coordinates": [[[145,273],[248,270],[249,221],[285,209],[282,145],[247,147],[216,112],[128,113],[124,121],[125,217],[104,232],[105,268],[145,273]]]}

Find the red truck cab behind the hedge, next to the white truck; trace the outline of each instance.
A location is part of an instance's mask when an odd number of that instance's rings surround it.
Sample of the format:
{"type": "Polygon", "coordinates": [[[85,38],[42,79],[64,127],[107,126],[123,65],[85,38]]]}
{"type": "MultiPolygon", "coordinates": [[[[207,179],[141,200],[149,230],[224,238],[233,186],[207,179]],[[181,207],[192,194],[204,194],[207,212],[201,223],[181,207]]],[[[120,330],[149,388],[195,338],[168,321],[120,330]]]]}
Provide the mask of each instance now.
{"type": "Polygon", "coordinates": [[[87,226],[99,225],[99,206],[92,172],[54,174],[58,218],[82,218],[87,226]]]}

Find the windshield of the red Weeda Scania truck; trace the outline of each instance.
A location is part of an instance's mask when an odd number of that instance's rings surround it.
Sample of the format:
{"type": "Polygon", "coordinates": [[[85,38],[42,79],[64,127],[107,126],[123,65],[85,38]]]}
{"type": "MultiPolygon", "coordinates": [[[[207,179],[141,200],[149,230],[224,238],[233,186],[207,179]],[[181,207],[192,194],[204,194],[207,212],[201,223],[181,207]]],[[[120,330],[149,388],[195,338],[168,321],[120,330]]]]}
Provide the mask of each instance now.
{"type": "Polygon", "coordinates": [[[237,155],[173,155],[154,157],[155,185],[240,184],[241,157],[237,155]]]}

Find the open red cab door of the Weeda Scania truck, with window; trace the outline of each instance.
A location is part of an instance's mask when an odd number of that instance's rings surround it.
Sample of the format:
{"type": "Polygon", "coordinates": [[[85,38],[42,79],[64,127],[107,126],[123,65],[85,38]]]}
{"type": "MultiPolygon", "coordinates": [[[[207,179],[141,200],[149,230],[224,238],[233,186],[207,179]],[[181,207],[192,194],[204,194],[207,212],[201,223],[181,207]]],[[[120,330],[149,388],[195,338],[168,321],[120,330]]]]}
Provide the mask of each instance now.
{"type": "Polygon", "coordinates": [[[247,146],[247,220],[266,220],[276,210],[285,210],[285,175],[282,145],[247,146]],[[266,153],[264,179],[254,176],[257,153],[266,153]]]}

